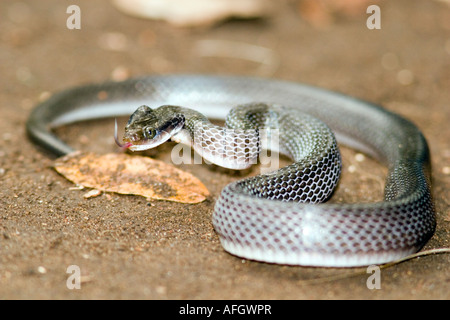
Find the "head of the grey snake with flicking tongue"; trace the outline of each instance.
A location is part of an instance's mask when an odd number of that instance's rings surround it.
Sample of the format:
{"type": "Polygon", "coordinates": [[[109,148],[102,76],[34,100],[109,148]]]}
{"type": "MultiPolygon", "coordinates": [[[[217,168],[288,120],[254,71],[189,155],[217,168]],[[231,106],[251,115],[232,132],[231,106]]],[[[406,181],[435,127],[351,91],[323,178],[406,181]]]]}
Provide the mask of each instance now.
{"type": "MultiPolygon", "coordinates": [[[[117,138],[116,143],[131,151],[143,151],[166,142],[184,126],[183,115],[164,116],[156,110],[145,105],[137,108],[125,127],[123,136],[125,144],[120,144],[117,138]]],[[[117,132],[115,135],[117,137],[117,132]]]]}

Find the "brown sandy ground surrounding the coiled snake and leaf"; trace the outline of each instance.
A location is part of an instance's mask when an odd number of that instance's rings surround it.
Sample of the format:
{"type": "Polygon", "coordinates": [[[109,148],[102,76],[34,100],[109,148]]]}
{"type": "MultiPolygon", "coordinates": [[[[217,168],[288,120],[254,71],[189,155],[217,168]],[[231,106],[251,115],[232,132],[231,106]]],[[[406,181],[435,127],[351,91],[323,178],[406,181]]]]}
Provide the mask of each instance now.
{"type": "MultiPolygon", "coordinates": [[[[51,168],[54,158],[24,131],[30,110],[49,93],[124,76],[244,74],[332,89],[382,104],[424,132],[438,223],[425,249],[450,247],[447,4],[381,2],[380,30],[366,27],[365,9],[312,26],[300,18],[295,1],[279,1],[268,19],[197,29],[132,18],[107,1],[71,4],[81,8],[81,30],[66,28],[66,2],[0,2],[0,299],[450,298],[448,254],[382,269],[379,290],[367,288],[365,268],[279,266],[227,254],[211,212],[221,188],[243,174],[183,166],[211,191],[197,205],[115,194],[86,200],[86,190],[73,190],[51,168]],[[202,40],[266,47],[274,59],[261,65],[205,57],[202,40]],[[66,286],[70,265],[81,270],[79,290],[66,286]]],[[[107,120],[71,125],[59,134],[79,149],[114,152],[112,130],[107,120]]],[[[170,148],[149,154],[170,161],[170,148]]],[[[333,201],[381,200],[385,168],[351,150],[343,154],[333,201]]]]}

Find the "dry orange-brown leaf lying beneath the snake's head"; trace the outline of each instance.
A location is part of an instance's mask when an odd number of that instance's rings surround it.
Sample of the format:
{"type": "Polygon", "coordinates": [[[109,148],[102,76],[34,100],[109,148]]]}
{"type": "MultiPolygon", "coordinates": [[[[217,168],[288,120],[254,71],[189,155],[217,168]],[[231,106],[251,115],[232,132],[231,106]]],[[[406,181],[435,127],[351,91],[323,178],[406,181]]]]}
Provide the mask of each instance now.
{"type": "Polygon", "coordinates": [[[106,192],[183,203],[202,202],[209,195],[190,173],[148,157],[74,152],[59,158],[55,169],[76,184],[106,192]]]}

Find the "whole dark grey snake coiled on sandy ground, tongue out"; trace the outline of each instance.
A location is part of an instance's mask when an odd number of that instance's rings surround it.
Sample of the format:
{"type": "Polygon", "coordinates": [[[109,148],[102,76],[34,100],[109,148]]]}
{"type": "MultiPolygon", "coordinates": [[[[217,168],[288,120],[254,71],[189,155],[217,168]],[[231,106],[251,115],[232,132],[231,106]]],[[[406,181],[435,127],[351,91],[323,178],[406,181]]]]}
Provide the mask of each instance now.
{"type": "Polygon", "coordinates": [[[266,149],[292,159],[222,189],[212,224],[234,256],[358,267],[417,252],[434,234],[427,141],[416,125],[379,105],[278,79],[150,75],[55,93],[31,111],[26,129],[32,141],[62,156],[74,149],[54,128],[118,116],[130,117],[123,143],[116,126],[116,142],[132,151],[173,140],[228,168],[247,168],[266,149]],[[326,201],[339,183],[340,144],[387,167],[382,201],[326,201]]]}

